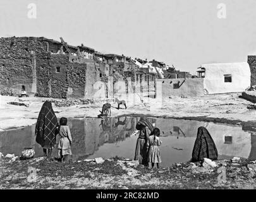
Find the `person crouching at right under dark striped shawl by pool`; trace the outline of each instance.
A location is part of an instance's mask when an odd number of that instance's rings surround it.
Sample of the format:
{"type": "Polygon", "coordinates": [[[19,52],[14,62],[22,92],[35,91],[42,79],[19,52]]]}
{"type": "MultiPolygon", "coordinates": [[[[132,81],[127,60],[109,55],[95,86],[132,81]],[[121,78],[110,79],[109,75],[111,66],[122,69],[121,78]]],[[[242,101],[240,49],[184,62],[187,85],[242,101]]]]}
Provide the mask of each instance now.
{"type": "Polygon", "coordinates": [[[192,152],[192,162],[199,162],[204,158],[217,160],[218,152],[209,131],[204,127],[199,127],[197,131],[197,139],[192,152]]]}

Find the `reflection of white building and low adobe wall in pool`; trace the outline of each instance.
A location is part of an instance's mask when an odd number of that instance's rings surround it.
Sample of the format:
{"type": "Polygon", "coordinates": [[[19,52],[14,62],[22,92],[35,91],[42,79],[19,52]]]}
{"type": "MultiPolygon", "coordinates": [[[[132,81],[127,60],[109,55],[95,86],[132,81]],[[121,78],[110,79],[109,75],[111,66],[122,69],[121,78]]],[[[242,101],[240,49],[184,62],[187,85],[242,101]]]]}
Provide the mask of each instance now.
{"type": "MultiPolygon", "coordinates": [[[[204,122],[175,119],[157,119],[155,124],[155,127],[161,129],[161,136],[180,136],[194,139],[197,137],[197,129],[200,126],[204,126],[204,122]]],[[[216,143],[220,156],[248,158],[250,153],[252,156],[255,155],[256,145],[253,147],[255,140],[252,140],[251,143],[250,133],[243,131],[241,127],[209,122],[207,130],[216,143]]]]}

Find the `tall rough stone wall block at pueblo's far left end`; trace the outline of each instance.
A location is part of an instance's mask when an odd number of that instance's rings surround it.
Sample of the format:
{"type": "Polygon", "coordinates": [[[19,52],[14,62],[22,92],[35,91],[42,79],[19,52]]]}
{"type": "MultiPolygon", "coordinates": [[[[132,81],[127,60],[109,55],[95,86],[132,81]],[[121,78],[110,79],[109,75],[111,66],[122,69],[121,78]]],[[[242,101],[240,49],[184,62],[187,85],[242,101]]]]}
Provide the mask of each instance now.
{"type": "Polygon", "coordinates": [[[14,95],[21,93],[25,86],[28,94],[35,93],[36,71],[35,56],[47,47],[34,37],[0,39],[0,93],[14,95]]]}

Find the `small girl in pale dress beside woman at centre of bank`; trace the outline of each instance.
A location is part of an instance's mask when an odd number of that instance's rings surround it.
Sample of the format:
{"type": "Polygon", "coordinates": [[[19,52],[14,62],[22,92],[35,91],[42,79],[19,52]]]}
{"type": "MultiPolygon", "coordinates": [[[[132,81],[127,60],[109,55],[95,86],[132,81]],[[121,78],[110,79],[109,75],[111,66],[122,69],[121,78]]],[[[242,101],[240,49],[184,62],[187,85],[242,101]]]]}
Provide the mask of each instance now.
{"type": "Polygon", "coordinates": [[[162,141],[159,139],[160,136],[160,130],[159,128],[154,128],[152,133],[149,136],[149,156],[148,156],[148,162],[152,163],[152,168],[154,167],[154,164],[157,163],[157,168],[160,168],[159,163],[162,162],[160,150],[158,146],[162,144],[162,141]]]}

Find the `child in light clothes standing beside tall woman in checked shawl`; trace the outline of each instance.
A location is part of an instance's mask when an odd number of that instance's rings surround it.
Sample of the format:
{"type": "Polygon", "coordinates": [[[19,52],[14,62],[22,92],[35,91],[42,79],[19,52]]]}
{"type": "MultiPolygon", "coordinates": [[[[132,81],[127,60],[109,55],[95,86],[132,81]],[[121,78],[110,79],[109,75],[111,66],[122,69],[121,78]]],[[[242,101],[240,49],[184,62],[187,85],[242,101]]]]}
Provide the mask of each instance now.
{"type": "Polygon", "coordinates": [[[61,162],[66,162],[68,155],[71,155],[71,133],[70,128],[67,126],[68,119],[62,117],[59,121],[59,135],[61,136],[59,140],[58,153],[61,157],[61,162]]]}

